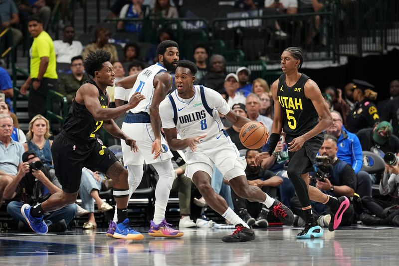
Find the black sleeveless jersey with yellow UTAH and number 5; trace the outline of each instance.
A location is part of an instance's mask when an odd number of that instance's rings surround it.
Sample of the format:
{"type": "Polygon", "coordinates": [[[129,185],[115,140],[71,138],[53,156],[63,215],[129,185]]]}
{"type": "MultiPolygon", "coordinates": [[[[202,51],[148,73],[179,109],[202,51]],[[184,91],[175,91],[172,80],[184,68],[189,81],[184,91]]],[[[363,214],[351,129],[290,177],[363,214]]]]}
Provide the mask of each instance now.
{"type": "Polygon", "coordinates": [[[308,79],[307,75],[302,74],[292,87],[285,82],[285,74],[278,79],[277,96],[282,107],[283,130],[291,136],[303,135],[319,122],[312,101],[305,97],[308,79]]]}

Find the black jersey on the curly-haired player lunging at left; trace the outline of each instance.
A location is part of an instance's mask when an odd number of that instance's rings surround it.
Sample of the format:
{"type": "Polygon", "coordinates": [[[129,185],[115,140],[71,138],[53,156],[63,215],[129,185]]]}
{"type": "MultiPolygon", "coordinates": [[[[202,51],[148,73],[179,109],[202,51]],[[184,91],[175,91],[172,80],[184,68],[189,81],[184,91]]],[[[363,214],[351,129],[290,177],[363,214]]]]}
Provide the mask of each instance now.
{"type": "MultiPolygon", "coordinates": [[[[105,94],[97,86],[94,80],[87,81],[93,84],[98,89],[98,100],[100,101],[101,108],[108,108],[108,95],[105,94]]],[[[84,104],[79,104],[75,100],[72,101],[72,106],[69,113],[65,117],[62,131],[75,139],[79,140],[94,140],[95,132],[103,125],[103,121],[96,121],[87,110],[84,104]]]]}

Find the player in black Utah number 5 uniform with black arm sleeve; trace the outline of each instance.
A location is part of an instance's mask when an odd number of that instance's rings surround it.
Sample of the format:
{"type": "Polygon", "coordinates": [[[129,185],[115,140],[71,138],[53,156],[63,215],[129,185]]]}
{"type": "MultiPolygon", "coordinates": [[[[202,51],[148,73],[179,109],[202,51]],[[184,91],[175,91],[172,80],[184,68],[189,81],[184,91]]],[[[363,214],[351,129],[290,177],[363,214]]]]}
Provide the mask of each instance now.
{"type": "Polygon", "coordinates": [[[288,47],[281,54],[284,72],[271,86],[274,100],[274,119],[267,152],[255,157],[255,164],[268,168],[274,162],[272,156],[280,139],[281,130],[287,134],[289,145],[288,177],[302,205],[306,217],[305,229],[297,238],[319,238],[323,230],[317,225],[310,200],[327,204],[331,210],[329,231],[337,229],[342,214],[349,207],[343,196],[335,198],[309,186],[309,171],[323,144],[322,132],[332,124],[332,116],[316,82],[298,72],[303,62],[300,48],[288,47]]]}

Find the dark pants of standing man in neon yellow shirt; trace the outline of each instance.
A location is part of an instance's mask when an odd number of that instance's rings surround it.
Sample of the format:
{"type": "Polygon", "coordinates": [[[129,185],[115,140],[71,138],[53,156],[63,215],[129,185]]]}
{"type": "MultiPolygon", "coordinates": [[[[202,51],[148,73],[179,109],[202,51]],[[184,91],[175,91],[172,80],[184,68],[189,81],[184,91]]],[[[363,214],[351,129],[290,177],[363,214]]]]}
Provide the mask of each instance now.
{"type": "Polygon", "coordinates": [[[56,79],[43,78],[37,90],[35,90],[32,86],[29,87],[29,96],[28,96],[29,120],[31,120],[37,114],[41,114],[44,117],[46,116],[47,91],[49,89],[55,90],[56,85],[57,85],[56,79]]]}

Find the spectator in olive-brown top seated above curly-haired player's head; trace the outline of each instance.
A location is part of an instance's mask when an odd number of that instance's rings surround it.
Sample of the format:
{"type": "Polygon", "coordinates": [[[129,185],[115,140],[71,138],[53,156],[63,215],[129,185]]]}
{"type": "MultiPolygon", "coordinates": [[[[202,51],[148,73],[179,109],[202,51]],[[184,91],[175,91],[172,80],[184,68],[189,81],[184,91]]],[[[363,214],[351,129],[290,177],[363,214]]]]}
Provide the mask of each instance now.
{"type": "Polygon", "coordinates": [[[108,29],[104,27],[96,28],[94,34],[95,41],[87,44],[86,47],[84,48],[82,52],[83,60],[86,59],[89,52],[94,52],[95,50],[103,49],[111,54],[111,63],[119,61],[118,52],[116,51],[115,46],[108,43],[109,36],[110,33],[108,29]]]}

